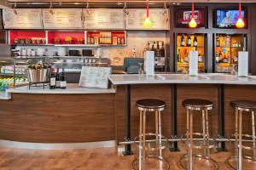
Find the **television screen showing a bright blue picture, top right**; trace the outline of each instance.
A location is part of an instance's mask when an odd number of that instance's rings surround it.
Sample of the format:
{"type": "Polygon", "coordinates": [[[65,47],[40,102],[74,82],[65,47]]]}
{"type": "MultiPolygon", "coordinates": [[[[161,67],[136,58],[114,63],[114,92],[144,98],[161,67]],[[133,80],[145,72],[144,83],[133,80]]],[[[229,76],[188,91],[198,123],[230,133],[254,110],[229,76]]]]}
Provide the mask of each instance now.
{"type": "MultiPolygon", "coordinates": [[[[239,10],[216,9],[215,25],[218,28],[236,28],[236,21],[239,18],[239,10]]],[[[245,21],[245,10],[241,10],[241,18],[245,21]]]]}

